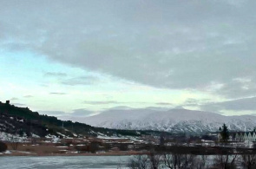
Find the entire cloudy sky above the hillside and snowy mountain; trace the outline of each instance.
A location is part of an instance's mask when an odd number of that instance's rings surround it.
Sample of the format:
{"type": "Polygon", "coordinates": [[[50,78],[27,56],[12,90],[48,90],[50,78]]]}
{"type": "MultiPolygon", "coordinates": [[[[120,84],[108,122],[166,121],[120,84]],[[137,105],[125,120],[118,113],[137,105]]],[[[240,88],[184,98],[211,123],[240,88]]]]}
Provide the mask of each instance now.
{"type": "Polygon", "coordinates": [[[54,113],[256,110],[255,0],[0,0],[0,100],[54,113]]]}

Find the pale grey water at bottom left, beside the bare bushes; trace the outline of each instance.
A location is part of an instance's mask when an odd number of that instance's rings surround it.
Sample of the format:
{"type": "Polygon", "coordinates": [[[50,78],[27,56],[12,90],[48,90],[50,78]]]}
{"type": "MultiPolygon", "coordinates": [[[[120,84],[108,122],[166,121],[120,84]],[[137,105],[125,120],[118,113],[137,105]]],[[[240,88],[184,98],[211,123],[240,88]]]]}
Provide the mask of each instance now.
{"type": "Polygon", "coordinates": [[[129,158],[130,156],[0,157],[0,168],[117,168],[126,166],[129,158]]]}

